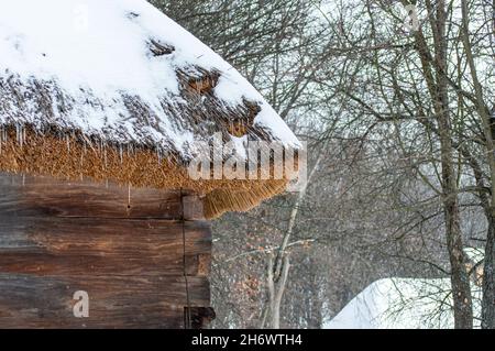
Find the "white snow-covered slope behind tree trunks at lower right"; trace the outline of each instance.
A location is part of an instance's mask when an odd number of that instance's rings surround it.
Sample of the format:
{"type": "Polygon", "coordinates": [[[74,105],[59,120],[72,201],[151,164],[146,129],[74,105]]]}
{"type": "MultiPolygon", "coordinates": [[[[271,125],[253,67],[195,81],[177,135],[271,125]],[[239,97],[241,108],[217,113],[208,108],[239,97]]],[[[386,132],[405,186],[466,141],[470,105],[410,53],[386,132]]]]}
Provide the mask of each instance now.
{"type": "MultiPolygon", "coordinates": [[[[468,249],[473,262],[483,253],[468,249]]],[[[481,288],[472,284],[474,316],[481,315],[481,288]]],[[[453,328],[450,279],[384,278],[367,286],[324,327],[329,329],[453,328]]],[[[474,320],[480,326],[479,318],[474,320]]]]}

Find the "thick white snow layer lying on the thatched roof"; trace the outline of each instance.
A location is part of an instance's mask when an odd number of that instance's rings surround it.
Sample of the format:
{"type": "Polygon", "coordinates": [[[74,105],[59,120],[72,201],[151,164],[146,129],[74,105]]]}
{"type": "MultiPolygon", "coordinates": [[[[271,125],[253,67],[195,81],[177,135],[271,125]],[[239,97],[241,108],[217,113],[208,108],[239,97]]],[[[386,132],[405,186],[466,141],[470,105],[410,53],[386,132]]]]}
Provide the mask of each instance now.
{"type": "Polygon", "coordinates": [[[241,119],[250,138],[299,146],[246,79],[144,0],[0,0],[0,124],[186,155],[241,119]]]}

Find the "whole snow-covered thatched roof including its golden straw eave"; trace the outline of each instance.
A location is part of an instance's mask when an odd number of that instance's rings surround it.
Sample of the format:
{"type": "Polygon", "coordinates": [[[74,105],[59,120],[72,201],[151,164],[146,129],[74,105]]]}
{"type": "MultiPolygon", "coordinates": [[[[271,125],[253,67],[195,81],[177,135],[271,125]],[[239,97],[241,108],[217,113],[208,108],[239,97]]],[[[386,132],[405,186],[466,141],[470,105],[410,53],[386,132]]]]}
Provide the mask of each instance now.
{"type": "Polygon", "coordinates": [[[2,3],[0,57],[0,171],[190,188],[211,216],[284,188],[188,179],[195,142],[217,132],[237,145],[298,141],[232,66],[144,0],[2,3]]]}

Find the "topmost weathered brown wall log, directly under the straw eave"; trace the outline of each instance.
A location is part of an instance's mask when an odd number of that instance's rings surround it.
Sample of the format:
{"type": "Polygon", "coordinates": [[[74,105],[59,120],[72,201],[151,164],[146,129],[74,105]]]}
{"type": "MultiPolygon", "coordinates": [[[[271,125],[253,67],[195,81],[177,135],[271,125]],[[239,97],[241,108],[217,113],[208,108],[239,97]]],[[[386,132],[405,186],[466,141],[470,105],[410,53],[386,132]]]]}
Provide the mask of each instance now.
{"type": "Polygon", "coordinates": [[[0,212],[10,216],[202,219],[202,202],[189,191],[122,187],[89,180],[0,173],[0,212]],[[180,205],[180,196],[186,206],[180,205]]]}

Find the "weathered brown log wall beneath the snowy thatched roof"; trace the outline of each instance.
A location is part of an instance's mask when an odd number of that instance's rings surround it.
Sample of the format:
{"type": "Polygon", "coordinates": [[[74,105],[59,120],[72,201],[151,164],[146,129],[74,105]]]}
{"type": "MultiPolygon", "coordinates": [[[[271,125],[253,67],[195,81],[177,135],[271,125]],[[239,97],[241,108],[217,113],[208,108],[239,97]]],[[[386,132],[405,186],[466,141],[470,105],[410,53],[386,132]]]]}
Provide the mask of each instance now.
{"type": "Polygon", "coordinates": [[[212,317],[201,217],[180,191],[0,173],[0,328],[185,328],[185,315],[200,327],[212,317]]]}

